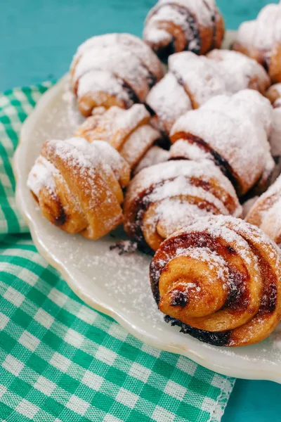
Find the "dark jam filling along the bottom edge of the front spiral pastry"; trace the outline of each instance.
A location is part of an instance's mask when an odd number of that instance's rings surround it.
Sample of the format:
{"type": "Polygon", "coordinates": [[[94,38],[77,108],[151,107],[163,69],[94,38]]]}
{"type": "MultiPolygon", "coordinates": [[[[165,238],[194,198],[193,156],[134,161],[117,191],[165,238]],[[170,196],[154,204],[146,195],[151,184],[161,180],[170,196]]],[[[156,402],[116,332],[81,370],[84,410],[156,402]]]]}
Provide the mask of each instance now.
{"type": "Polygon", "coordinates": [[[221,331],[220,333],[211,333],[211,331],[198,330],[192,328],[178,319],[171,318],[169,315],[164,316],[164,321],[170,323],[171,326],[181,327],[181,333],[190,334],[192,337],[197,338],[204,343],[208,343],[213,346],[227,346],[230,340],[231,331],[221,331]]]}

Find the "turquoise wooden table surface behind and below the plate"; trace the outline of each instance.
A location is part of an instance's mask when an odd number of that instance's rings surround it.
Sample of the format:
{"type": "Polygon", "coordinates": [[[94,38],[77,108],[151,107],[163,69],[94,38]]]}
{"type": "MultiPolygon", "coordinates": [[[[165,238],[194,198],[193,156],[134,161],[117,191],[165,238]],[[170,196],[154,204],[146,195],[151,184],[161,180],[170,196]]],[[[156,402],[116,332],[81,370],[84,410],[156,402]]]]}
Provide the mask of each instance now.
{"type": "MultiPolygon", "coordinates": [[[[195,0],[196,1],[196,0],[195,0]]],[[[229,29],[256,16],[266,0],[217,0],[229,29]]],[[[1,0],[0,91],[59,78],[76,46],[93,34],[141,35],[154,0],[1,0]]],[[[275,0],[277,3],[277,0],[275,0]]],[[[235,384],[223,422],[280,421],[281,385],[235,384]]]]}

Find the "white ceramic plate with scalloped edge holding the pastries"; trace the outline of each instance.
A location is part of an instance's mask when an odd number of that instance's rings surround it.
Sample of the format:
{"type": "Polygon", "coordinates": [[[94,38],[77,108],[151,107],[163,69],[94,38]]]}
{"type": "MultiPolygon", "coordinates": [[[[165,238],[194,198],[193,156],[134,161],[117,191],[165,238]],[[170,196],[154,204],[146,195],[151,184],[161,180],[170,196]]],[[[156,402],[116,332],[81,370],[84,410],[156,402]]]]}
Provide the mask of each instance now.
{"type": "Polygon", "coordinates": [[[119,256],[116,250],[110,251],[110,245],[126,238],[122,230],[115,231],[115,238],[87,241],[60,231],[41,216],[27,188],[27,175],[42,143],[72,136],[79,123],[67,80],[63,77],[48,90],[26,120],[14,160],[17,204],[41,255],[63,274],[79,298],[112,316],[143,342],[183,354],[228,376],[281,383],[281,328],[259,345],[228,349],[200,343],[164,322],[150,292],[150,257],[140,252],[119,256]]]}

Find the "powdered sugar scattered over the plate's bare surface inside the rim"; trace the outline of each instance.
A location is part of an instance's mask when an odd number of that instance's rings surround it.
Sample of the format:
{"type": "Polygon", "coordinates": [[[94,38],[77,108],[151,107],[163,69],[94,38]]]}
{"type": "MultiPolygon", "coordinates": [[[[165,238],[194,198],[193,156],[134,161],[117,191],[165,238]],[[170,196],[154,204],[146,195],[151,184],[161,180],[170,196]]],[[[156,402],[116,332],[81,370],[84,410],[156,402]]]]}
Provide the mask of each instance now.
{"type": "MultiPolygon", "coordinates": [[[[25,157],[27,169],[32,167],[35,158],[39,155],[41,144],[46,139],[54,137],[66,139],[72,136],[73,129],[70,129],[67,108],[61,98],[52,103],[51,109],[48,108],[41,116],[33,133],[29,153],[25,157]]],[[[187,351],[190,347],[194,347],[196,352],[208,359],[210,365],[223,359],[226,364],[235,362],[237,367],[247,368],[247,376],[252,376],[253,373],[259,376],[261,374],[259,371],[263,371],[266,377],[271,378],[271,374],[274,373],[273,378],[278,379],[280,374],[277,368],[280,367],[281,354],[276,342],[280,340],[280,329],[276,331],[276,335],[275,333],[270,335],[270,338],[260,345],[238,347],[232,350],[200,343],[189,335],[183,335],[179,333],[180,328],[171,327],[163,321],[163,314],[159,312],[152,298],[148,279],[150,257],[140,252],[121,257],[117,250],[110,252],[109,246],[117,241],[112,240],[110,236],[96,242],[89,242],[81,236],[71,236],[70,242],[68,234],[58,230],[41,217],[39,207],[34,206],[34,201],[32,198],[29,199],[28,194],[27,203],[29,203],[32,219],[38,224],[40,241],[49,250],[55,250],[60,265],[67,269],[75,280],[74,289],[79,290],[80,294],[86,293],[98,302],[103,298],[105,307],[111,307],[114,312],[121,314],[123,319],[130,321],[132,333],[135,332],[136,335],[145,333],[146,338],[150,335],[150,339],[153,338],[153,343],[159,347],[176,344],[178,353],[189,353],[187,351]],[[100,290],[103,291],[102,298],[100,290]],[[168,340],[163,341],[163,339],[168,340]]],[[[115,236],[118,240],[126,238],[119,231],[115,232],[115,236]]],[[[138,340],[133,340],[131,337],[127,339],[137,347],[141,347],[138,340]]],[[[147,352],[147,350],[156,353],[155,349],[152,350],[150,347],[145,347],[144,351],[147,352]]]]}

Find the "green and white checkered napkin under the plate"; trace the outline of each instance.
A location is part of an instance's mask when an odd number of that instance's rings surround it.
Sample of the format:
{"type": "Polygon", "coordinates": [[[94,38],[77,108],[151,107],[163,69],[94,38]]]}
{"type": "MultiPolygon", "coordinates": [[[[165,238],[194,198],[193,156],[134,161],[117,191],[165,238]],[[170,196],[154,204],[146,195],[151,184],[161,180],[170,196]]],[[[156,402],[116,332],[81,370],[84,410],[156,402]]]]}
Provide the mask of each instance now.
{"type": "Polygon", "coordinates": [[[84,305],[34,247],[11,159],[50,85],[0,96],[1,421],[219,421],[232,378],[136,340],[84,305]]]}

